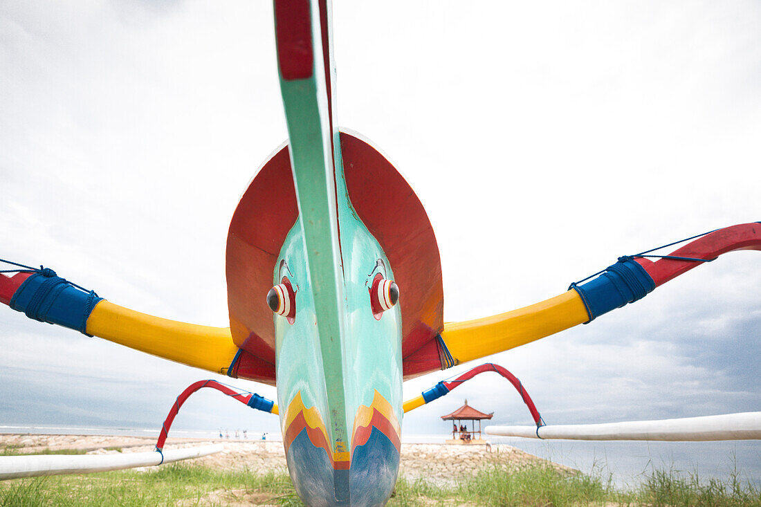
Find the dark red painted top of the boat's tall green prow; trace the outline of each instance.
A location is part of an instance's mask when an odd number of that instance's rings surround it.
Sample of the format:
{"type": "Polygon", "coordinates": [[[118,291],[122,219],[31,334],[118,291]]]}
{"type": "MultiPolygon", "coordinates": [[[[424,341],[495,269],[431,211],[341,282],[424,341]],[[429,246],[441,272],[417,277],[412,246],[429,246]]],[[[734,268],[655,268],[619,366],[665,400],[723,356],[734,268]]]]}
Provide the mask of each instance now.
{"type": "Polygon", "coordinates": [[[283,79],[312,76],[314,48],[309,0],[275,0],[275,43],[283,79]]]}

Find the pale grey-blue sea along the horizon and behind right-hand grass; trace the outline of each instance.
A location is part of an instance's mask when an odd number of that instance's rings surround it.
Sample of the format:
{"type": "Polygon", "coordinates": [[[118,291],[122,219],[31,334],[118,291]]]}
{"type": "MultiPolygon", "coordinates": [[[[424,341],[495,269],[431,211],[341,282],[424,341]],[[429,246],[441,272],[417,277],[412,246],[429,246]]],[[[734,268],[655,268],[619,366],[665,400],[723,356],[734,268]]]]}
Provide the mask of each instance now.
{"type": "MultiPolygon", "coordinates": [[[[125,435],[157,437],[155,428],[116,426],[0,425],[0,433],[46,435],[125,435]]],[[[282,442],[279,433],[243,432],[243,429],[172,428],[170,436],[181,438],[229,438],[282,442]]],[[[442,444],[451,434],[406,434],[402,443],[442,444]]],[[[662,470],[700,483],[709,480],[738,481],[761,488],[761,442],[585,442],[532,438],[488,437],[492,449],[512,446],[585,474],[599,477],[620,489],[635,488],[662,470]]]]}

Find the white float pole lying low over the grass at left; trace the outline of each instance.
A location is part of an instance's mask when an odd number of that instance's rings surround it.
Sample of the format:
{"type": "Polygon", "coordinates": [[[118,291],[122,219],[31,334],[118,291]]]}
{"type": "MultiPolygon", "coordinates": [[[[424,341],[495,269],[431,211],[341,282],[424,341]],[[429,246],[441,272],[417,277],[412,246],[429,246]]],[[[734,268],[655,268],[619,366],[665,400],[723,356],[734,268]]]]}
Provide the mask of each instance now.
{"type": "Polygon", "coordinates": [[[161,453],[135,452],[124,454],[38,454],[32,456],[0,456],[0,480],[41,475],[90,474],[123,468],[151,467],[173,461],[200,458],[223,450],[221,445],[206,445],[164,450],[161,453]]]}

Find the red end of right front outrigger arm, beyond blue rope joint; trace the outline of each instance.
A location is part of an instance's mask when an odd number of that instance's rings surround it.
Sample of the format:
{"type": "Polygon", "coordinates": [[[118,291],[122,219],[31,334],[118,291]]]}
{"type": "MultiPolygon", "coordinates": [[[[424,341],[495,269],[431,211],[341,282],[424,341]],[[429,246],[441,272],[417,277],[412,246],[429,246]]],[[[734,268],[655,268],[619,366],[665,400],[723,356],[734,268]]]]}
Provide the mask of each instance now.
{"type": "MultiPolygon", "coordinates": [[[[674,250],[669,255],[693,259],[715,259],[722,253],[735,250],[761,250],[761,224],[753,222],[732,225],[713,231],[674,250]]],[[[635,260],[650,274],[656,287],[704,264],[694,260],[660,259],[653,262],[642,257],[635,260]]]]}

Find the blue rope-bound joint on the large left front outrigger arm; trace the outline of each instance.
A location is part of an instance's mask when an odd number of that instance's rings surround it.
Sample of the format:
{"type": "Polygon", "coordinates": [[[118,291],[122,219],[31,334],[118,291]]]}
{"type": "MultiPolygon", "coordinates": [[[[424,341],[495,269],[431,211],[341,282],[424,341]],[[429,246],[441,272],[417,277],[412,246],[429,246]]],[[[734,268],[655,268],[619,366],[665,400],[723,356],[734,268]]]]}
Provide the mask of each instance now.
{"type": "Polygon", "coordinates": [[[59,324],[92,336],[87,333],[88,317],[102,299],[94,291],[81,289],[46,268],[36,269],[24,280],[8,306],[24,312],[30,319],[59,324]]]}

